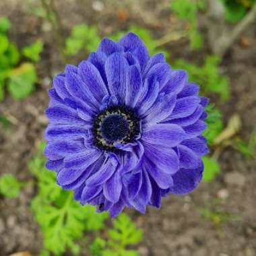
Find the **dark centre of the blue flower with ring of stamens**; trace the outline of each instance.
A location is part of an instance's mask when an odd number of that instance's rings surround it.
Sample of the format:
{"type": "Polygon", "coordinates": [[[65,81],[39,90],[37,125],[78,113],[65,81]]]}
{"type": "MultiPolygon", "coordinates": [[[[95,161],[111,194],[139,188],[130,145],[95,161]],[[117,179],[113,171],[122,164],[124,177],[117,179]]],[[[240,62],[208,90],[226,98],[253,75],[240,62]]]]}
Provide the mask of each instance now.
{"type": "Polygon", "coordinates": [[[127,106],[111,106],[94,119],[94,145],[115,152],[115,142],[128,143],[139,135],[139,118],[127,106]]]}

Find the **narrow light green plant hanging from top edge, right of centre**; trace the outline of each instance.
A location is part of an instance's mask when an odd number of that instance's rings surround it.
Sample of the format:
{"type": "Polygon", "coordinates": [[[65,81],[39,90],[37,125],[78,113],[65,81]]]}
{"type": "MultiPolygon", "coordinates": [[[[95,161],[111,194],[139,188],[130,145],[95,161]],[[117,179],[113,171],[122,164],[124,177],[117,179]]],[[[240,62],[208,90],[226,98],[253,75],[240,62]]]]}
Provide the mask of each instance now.
{"type": "Polygon", "coordinates": [[[172,0],[170,8],[180,20],[187,22],[187,36],[192,50],[199,50],[203,46],[203,37],[198,31],[197,15],[205,9],[205,0],[172,0]]]}

